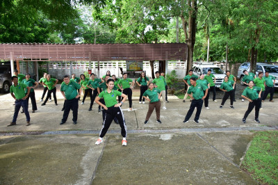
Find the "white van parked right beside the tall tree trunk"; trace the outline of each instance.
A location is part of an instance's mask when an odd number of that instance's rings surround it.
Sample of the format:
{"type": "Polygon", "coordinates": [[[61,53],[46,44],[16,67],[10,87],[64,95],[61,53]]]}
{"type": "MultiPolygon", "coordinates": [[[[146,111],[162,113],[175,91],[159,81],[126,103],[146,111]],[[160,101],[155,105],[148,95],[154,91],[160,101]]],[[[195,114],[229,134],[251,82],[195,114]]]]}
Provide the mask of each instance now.
{"type": "Polygon", "coordinates": [[[193,65],[193,74],[199,77],[201,74],[207,74],[209,69],[211,69],[211,74],[213,74],[216,78],[215,87],[220,88],[226,75],[217,65],[213,65],[211,63],[200,63],[193,65]]]}

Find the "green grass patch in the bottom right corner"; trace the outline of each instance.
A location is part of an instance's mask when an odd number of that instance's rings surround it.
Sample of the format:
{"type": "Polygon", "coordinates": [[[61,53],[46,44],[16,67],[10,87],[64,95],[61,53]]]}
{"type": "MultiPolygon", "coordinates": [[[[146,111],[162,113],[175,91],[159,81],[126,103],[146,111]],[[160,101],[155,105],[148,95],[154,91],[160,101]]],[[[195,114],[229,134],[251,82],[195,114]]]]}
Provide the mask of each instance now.
{"type": "Polygon", "coordinates": [[[262,184],[278,184],[278,131],[256,132],[241,168],[262,184]]]}

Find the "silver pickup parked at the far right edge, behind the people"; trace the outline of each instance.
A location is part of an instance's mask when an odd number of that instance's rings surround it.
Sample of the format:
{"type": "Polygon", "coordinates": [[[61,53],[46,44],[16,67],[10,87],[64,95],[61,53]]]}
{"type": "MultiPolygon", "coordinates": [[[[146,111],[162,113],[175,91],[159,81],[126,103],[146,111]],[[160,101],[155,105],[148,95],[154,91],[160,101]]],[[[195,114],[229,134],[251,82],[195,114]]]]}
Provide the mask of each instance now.
{"type": "MultiPolygon", "coordinates": [[[[243,77],[244,73],[243,70],[247,70],[250,72],[250,63],[243,63],[238,68],[238,79],[240,79],[240,84],[244,85],[243,83],[243,77]]],[[[268,71],[270,75],[275,77],[275,88],[278,88],[278,66],[277,65],[271,65],[267,63],[256,63],[256,76],[258,77],[259,72],[263,72],[263,76],[265,75],[265,71],[268,71]]]]}

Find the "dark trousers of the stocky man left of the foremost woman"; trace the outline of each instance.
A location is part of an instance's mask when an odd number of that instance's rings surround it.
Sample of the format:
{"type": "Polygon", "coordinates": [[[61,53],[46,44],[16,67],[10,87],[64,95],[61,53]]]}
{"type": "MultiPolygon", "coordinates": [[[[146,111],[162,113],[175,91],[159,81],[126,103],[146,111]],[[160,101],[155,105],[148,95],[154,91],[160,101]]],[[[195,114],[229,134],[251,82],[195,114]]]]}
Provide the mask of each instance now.
{"type": "Polygon", "coordinates": [[[72,110],[73,121],[77,121],[77,114],[78,114],[78,102],[79,99],[65,99],[65,111],[63,114],[62,122],[67,121],[67,117],[69,116],[70,110],[72,110]]]}

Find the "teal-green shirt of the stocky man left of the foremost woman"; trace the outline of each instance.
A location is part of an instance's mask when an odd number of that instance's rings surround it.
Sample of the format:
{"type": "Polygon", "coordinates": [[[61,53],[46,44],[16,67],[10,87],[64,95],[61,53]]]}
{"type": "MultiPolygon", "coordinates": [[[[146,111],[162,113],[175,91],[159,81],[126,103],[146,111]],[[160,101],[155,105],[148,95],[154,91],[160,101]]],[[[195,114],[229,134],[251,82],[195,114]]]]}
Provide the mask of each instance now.
{"type": "Polygon", "coordinates": [[[77,90],[80,88],[81,86],[79,85],[79,83],[76,83],[75,81],[70,81],[67,84],[65,84],[65,82],[63,81],[60,91],[63,91],[65,93],[65,98],[67,100],[71,100],[78,95],[77,90]]]}

